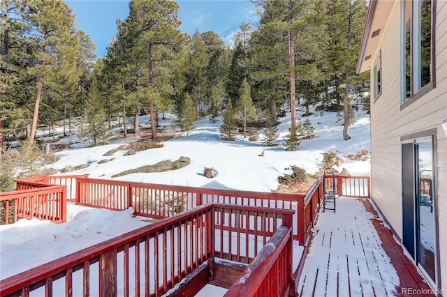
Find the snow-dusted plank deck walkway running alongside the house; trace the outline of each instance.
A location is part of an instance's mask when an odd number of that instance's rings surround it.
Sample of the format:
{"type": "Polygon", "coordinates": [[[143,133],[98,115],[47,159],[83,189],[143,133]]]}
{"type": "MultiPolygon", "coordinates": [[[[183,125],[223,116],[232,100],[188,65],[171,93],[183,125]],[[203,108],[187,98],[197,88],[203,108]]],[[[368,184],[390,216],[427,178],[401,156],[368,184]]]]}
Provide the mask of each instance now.
{"type": "Polygon", "coordinates": [[[430,296],[369,199],[337,199],[337,213],[319,214],[299,296],[406,296],[414,290],[430,296]]]}

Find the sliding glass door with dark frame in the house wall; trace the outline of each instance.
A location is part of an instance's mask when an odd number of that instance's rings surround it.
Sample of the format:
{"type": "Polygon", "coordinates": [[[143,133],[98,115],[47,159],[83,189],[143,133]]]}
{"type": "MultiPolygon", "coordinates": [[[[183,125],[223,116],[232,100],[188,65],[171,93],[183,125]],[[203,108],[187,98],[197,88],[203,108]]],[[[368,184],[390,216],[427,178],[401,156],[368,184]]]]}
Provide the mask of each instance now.
{"type": "Polygon", "coordinates": [[[432,137],[402,144],[402,244],[425,278],[437,282],[432,137]]]}

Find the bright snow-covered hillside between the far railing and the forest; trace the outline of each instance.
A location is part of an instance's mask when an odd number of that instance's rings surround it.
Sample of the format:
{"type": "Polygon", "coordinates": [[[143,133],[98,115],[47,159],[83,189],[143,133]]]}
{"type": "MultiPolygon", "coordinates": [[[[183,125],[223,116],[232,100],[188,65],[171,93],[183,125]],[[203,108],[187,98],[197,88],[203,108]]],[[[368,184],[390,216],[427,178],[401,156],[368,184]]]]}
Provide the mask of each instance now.
{"type": "MultiPolygon", "coordinates": [[[[311,112],[314,112],[311,109],[311,112]]],[[[356,155],[362,151],[370,151],[369,114],[356,112],[356,123],[349,128],[351,139],[342,139],[342,125],[336,123],[335,112],[315,112],[312,116],[303,117],[302,110],[297,110],[297,119],[305,121],[310,119],[315,128],[316,138],[302,140],[298,151],[285,151],[281,145],[290,128],[290,113],[286,117],[279,118],[280,137],[277,146],[262,146],[263,130],[258,130],[260,135],[256,142],[248,138],[237,137],[234,142],[222,141],[219,137],[221,121],[210,123],[208,120],[197,121],[195,128],[189,132],[189,136],[175,137],[163,142],[162,148],[152,148],[139,151],[135,155],[124,156],[126,151],[105,157],[104,153],[117,148],[122,144],[134,141],[135,138],[119,139],[112,144],[96,147],[83,147],[75,144],[75,149],[57,153],[60,160],[50,165],[53,169],[61,170],[65,167],[89,163],[89,167],[80,169],[70,174],[90,174],[94,178],[111,178],[128,169],[134,169],[144,165],[153,165],[162,160],[177,160],[181,156],[190,158],[190,165],[170,172],[129,174],[117,179],[124,181],[138,181],[145,183],[161,183],[167,185],[188,185],[204,188],[221,188],[235,190],[251,190],[270,192],[278,188],[277,177],[284,173],[286,167],[295,165],[306,169],[307,173],[314,174],[323,167],[322,153],[332,152],[341,158],[344,163],[335,167],[341,172],[346,168],[351,175],[369,176],[369,153],[366,161],[351,160],[346,155],[356,155]],[[263,156],[259,156],[264,151],[263,156]],[[103,159],[115,158],[110,162],[99,164],[103,159]],[[209,179],[203,176],[204,167],[213,167],[217,172],[215,178],[209,179]]],[[[172,120],[172,119],[171,119],[172,120]]],[[[141,123],[149,123],[147,116],[140,117],[141,123]]],[[[170,129],[170,120],[160,121],[161,127],[170,129]]],[[[75,135],[65,137],[59,142],[75,141],[75,135]]]]}

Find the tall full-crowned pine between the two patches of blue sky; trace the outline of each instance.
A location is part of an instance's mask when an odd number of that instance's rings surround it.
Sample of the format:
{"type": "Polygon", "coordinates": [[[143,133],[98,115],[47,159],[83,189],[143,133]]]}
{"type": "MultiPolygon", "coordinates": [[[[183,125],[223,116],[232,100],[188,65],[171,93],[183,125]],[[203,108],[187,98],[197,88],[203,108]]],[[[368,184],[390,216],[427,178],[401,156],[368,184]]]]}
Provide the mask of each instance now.
{"type": "Polygon", "coordinates": [[[156,104],[160,100],[168,100],[173,91],[169,85],[170,77],[186,34],[179,28],[179,5],[175,1],[132,0],[129,9],[129,17],[121,23],[118,42],[122,43],[123,50],[132,55],[130,73],[133,89],[130,91],[139,92],[134,96],[137,103],[135,115],[139,111],[140,99],[149,102],[151,136],[156,139],[156,104]],[[141,95],[145,97],[140,98],[141,95]]]}

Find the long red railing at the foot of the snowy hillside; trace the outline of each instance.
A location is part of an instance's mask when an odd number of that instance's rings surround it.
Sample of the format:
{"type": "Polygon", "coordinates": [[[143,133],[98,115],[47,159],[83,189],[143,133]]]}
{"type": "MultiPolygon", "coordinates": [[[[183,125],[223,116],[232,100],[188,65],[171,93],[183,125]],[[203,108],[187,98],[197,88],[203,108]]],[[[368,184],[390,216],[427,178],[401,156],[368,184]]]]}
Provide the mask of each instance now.
{"type": "MultiPolygon", "coordinates": [[[[76,204],[112,210],[133,207],[135,215],[163,219],[207,202],[262,206],[295,211],[293,236],[298,239],[298,213],[305,195],[191,188],[178,185],[78,178],[76,204]]],[[[304,242],[300,241],[300,244],[304,242]]]]}

